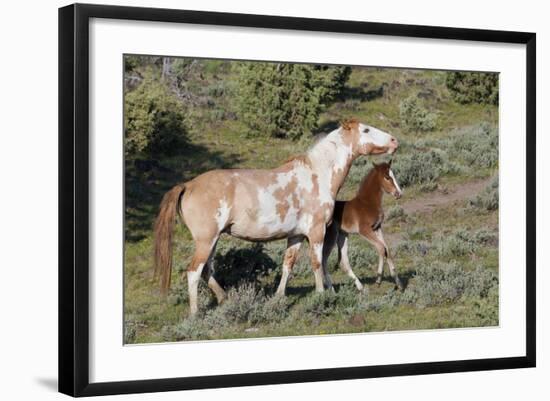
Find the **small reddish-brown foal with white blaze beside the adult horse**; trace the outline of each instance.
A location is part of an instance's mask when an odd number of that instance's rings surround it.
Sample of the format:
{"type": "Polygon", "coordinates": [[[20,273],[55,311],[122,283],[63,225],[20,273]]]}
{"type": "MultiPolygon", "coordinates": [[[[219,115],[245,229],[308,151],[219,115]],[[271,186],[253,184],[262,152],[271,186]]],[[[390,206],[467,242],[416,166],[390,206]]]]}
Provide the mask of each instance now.
{"type": "Polygon", "coordinates": [[[395,284],[403,290],[403,284],[395,271],[393,260],[384,236],[382,235],[382,223],[384,211],[382,210],[382,196],[384,192],[392,194],[399,199],[402,195],[401,188],[397,184],[395,175],[389,163],[375,164],[374,168],[361,182],[359,191],[355,198],[350,201],[336,201],[332,223],[327,227],[325,241],[323,244],[323,273],[325,284],[330,288],[332,282],[327,271],[327,260],[334,245],[338,246],[338,263],[340,268],[355,281],[358,290],[363,285],[351,270],[348,259],[348,234],[360,234],[369,241],[378,252],[378,277],[376,283],[382,281],[384,269],[384,257],[388,261],[390,274],[395,284]]]}

